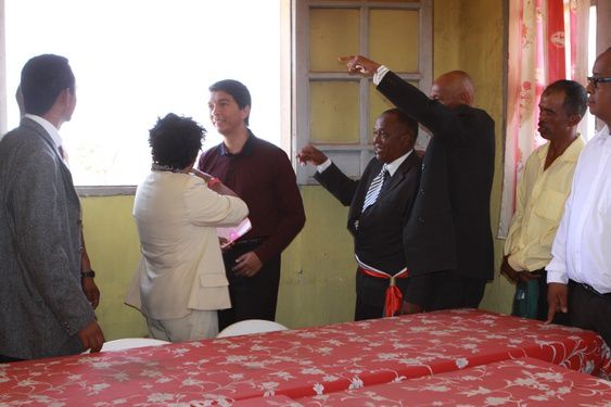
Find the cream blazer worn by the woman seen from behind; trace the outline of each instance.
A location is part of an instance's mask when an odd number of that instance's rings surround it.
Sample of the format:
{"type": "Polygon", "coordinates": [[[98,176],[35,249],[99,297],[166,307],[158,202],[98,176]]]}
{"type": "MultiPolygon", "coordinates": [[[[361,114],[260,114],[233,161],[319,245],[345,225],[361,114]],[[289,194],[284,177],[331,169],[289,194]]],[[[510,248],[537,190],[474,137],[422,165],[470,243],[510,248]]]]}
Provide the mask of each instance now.
{"type": "Polygon", "coordinates": [[[241,199],[219,195],[199,177],[152,171],[133,202],[142,257],[126,304],[153,319],[230,308],[216,227],[247,214],[241,199]]]}

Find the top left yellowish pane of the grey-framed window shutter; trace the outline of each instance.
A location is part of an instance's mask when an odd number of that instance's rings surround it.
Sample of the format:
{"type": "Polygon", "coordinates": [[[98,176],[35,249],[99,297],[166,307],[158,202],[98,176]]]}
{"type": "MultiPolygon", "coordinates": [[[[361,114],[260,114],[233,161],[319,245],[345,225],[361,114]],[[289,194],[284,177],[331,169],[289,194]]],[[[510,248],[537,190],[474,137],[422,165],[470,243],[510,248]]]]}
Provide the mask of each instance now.
{"type": "Polygon", "coordinates": [[[344,72],[338,56],[358,54],[359,12],[356,9],[311,9],[309,12],[313,72],[344,72]]]}

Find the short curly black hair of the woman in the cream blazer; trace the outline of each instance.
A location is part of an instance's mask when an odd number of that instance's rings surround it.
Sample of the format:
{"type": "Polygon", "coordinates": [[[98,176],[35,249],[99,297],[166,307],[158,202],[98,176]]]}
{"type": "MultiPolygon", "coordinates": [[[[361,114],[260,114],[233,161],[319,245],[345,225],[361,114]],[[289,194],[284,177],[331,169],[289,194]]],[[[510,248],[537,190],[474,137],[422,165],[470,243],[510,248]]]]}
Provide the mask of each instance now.
{"type": "Polygon", "coordinates": [[[191,117],[167,114],[149,130],[153,163],[176,171],[187,168],[198,157],[205,135],[206,129],[191,117]]]}

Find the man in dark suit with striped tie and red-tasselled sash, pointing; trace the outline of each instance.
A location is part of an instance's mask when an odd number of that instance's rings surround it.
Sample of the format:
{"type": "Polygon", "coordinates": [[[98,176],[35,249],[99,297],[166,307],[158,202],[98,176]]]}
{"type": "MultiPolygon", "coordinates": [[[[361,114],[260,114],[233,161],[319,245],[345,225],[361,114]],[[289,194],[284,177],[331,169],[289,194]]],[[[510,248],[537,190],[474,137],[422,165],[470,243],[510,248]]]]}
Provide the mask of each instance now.
{"type": "Polygon", "coordinates": [[[356,271],[355,320],[392,316],[407,287],[403,229],[418,191],[420,157],[413,151],[418,124],[393,109],[373,128],[375,157],[356,181],[311,145],[298,154],[318,166],[315,175],[342,204],[349,205],[356,271]]]}

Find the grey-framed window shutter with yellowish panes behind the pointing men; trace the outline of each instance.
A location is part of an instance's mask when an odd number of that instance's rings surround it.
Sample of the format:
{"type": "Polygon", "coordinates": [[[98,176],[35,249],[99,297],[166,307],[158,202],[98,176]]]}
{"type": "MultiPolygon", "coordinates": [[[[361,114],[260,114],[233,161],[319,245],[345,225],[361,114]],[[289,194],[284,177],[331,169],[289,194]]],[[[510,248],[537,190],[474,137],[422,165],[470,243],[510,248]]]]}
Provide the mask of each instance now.
{"type": "MultiPolygon", "coordinates": [[[[351,76],[338,56],[368,55],[420,88],[431,85],[432,1],[316,1],[295,4],[296,150],[308,143],[359,178],[373,155],[373,120],[392,107],[370,78],[351,76]]],[[[297,168],[300,183],[316,168],[297,168]]]]}

